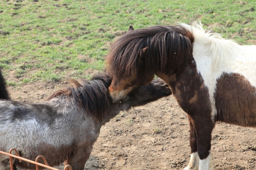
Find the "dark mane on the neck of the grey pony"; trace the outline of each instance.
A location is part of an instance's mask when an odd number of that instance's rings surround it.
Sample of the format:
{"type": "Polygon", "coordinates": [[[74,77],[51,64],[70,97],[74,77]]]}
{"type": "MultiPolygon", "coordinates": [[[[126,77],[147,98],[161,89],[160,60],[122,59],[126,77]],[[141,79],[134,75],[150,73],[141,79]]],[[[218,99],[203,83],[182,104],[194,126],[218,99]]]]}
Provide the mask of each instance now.
{"type": "Polygon", "coordinates": [[[108,87],[111,80],[105,73],[97,74],[90,81],[84,81],[82,84],[76,80],[71,80],[75,87],[67,87],[56,91],[46,101],[57,96],[72,96],[80,107],[102,121],[110,104],[108,87]]]}

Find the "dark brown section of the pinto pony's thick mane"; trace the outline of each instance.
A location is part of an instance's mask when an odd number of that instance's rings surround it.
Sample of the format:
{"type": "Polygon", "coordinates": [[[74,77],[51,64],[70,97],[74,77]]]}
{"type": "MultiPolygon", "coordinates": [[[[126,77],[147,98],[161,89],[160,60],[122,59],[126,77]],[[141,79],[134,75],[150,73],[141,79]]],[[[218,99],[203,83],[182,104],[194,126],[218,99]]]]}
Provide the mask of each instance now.
{"type": "MultiPolygon", "coordinates": [[[[192,58],[192,32],[183,26],[153,26],[128,31],[114,41],[107,56],[108,70],[124,78],[136,74],[143,48],[147,73],[180,71],[192,58]]],[[[168,73],[167,73],[168,74],[168,73]]]]}

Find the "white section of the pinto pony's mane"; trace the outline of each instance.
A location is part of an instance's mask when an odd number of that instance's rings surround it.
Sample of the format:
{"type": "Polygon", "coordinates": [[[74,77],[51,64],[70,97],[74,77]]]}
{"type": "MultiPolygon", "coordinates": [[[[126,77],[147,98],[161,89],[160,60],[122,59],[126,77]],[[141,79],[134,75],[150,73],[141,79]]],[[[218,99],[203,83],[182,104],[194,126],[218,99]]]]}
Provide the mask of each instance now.
{"type": "Polygon", "coordinates": [[[220,34],[211,30],[204,29],[200,21],[194,22],[192,26],[180,23],[187,28],[195,37],[195,43],[203,43],[209,46],[209,56],[212,57],[212,69],[218,69],[218,66],[233,61],[236,54],[241,52],[240,45],[233,40],[227,40],[220,34]]]}

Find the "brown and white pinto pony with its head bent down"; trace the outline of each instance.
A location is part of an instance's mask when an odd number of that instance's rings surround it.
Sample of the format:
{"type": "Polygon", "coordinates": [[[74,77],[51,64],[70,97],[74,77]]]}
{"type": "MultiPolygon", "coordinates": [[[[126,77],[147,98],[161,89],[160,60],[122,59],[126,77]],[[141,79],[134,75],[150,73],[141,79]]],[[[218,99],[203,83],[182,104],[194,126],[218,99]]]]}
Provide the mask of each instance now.
{"type": "Polygon", "coordinates": [[[111,45],[112,102],[156,74],[189,119],[191,158],[184,170],[209,170],[215,122],[256,126],[256,46],[205,32],[201,23],[134,30],[111,45]]]}

